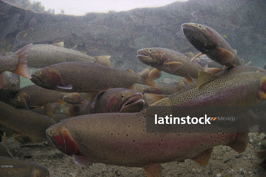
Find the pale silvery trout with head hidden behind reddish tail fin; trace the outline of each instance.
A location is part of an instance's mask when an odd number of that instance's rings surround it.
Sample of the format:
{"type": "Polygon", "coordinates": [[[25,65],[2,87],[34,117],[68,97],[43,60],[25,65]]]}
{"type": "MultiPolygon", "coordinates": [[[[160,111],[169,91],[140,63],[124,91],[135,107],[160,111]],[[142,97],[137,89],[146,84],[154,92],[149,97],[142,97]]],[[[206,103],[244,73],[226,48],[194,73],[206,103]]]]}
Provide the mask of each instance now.
{"type": "Polygon", "coordinates": [[[44,68],[56,63],[64,63],[71,61],[86,61],[94,62],[102,65],[112,67],[109,60],[111,56],[104,55],[98,57],[91,57],[83,52],[64,48],[64,42],[57,42],[54,44],[36,44],[32,45],[28,52],[28,67],[30,68],[44,68]]]}

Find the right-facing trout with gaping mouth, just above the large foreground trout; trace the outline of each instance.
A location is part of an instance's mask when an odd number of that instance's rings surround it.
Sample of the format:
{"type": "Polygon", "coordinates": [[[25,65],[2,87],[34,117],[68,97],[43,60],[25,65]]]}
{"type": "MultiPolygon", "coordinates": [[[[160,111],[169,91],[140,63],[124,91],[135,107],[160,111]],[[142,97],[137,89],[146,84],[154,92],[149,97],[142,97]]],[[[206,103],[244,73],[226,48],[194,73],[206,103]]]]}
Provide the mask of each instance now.
{"type": "Polygon", "coordinates": [[[108,112],[140,112],[144,106],[143,95],[135,90],[114,88],[101,92],[85,106],[69,106],[69,117],[108,112]]]}

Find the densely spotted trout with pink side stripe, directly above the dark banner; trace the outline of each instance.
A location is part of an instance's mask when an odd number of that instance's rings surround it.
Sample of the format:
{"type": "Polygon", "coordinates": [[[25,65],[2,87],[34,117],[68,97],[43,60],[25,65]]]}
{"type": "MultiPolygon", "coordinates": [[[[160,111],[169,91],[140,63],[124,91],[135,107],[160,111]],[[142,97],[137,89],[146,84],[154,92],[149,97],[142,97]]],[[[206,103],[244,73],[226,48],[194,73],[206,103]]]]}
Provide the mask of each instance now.
{"type": "Polygon", "coordinates": [[[204,75],[200,76],[199,82],[187,86],[177,86],[177,92],[169,96],[144,94],[144,100],[149,105],[158,101],[156,105],[165,106],[249,106],[257,105],[260,100],[266,98],[262,79],[266,76],[266,71],[261,68],[241,65],[226,68],[215,74],[201,72],[204,75]]]}

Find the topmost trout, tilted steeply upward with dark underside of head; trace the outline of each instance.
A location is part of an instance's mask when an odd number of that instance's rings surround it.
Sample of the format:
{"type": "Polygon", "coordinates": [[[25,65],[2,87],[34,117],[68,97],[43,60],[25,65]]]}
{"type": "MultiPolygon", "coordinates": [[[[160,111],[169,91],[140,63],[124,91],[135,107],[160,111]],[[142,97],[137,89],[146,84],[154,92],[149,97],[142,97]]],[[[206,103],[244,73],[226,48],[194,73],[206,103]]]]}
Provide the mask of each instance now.
{"type": "Polygon", "coordinates": [[[201,52],[194,59],[206,54],[228,68],[244,64],[243,60],[239,60],[236,51],[212,28],[196,23],[185,23],[181,28],[188,41],[201,52]]]}

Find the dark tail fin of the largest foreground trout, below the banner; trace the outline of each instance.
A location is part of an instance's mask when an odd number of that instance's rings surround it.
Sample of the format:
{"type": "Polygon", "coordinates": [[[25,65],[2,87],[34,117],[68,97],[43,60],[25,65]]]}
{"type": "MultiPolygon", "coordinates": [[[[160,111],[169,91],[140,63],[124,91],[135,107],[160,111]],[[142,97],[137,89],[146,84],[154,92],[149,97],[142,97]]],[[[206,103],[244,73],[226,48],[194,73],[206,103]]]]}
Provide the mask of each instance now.
{"type": "Polygon", "coordinates": [[[236,133],[233,133],[235,139],[229,142],[227,145],[238,153],[242,153],[246,150],[248,145],[249,126],[244,117],[238,119],[232,125],[232,129],[236,133]]]}

